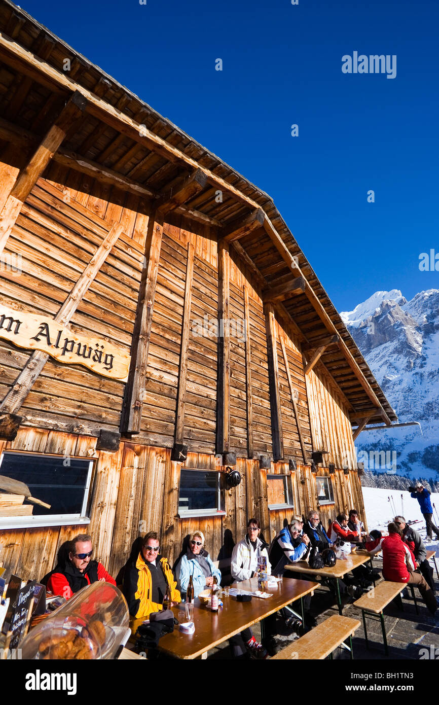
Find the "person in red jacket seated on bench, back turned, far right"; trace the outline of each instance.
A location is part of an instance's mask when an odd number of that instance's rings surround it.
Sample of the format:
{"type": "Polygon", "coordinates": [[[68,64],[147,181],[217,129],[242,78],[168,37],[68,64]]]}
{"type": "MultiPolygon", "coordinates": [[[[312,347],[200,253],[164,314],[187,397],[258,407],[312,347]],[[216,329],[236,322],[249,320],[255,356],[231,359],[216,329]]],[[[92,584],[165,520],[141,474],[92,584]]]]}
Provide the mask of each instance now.
{"type": "Polygon", "coordinates": [[[402,540],[400,527],[395,522],[391,522],[388,525],[388,532],[389,535],[381,539],[384,580],[416,585],[428,610],[434,614],[438,608],[435,594],[425,578],[420,573],[414,572],[416,560],[409,546],[402,540]]]}

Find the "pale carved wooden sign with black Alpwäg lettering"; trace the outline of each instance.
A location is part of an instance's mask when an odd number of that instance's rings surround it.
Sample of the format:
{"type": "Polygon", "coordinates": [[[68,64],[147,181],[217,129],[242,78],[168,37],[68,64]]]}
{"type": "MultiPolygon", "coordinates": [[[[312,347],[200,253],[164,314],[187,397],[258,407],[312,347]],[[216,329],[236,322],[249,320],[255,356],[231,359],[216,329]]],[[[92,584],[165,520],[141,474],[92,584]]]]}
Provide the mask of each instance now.
{"type": "Polygon", "coordinates": [[[42,350],[59,362],[82,364],[111,379],[127,381],[130,355],[104,338],[85,336],[54,319],[18,311],[0,301],[0,338],[19,348],[42,350]]]}

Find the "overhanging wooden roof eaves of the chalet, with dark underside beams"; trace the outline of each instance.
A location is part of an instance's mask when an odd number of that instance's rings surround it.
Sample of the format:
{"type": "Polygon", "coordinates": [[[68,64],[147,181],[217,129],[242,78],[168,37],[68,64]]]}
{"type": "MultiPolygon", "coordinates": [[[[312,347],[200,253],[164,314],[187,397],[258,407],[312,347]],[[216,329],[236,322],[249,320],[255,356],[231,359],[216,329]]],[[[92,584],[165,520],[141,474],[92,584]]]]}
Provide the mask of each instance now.
{"type": "MultiPolygon", "coordinates": [[[[352,424],[363,428],[397,421],[265,192],[9,0],[0,0],[0,30],[0,159],[16,159],[24,169],[42,148],[54,116],[77,97],[81,112],[51,158],[142,197],[162,214],[173,211],[213,226],[218,240],[229,243],[233,256],[253,274],[264,300],[299,337],[306,371],[317,360],[323,363],[350,409],[352,424]],[[66,59],[68,72],[63,71],[66,59]]],[[[0,234],[0,250],[3,246],[0,234]]]]}

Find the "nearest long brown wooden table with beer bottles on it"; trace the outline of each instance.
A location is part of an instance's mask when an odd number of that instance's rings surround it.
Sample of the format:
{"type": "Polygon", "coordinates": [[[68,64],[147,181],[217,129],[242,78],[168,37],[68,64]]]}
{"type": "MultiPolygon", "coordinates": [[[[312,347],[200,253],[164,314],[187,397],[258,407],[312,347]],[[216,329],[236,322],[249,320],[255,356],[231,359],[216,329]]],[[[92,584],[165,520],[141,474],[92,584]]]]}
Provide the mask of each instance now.
{"type": "MultiPolygon", "coordinates": [[[[233,583],[242,591],[258,589],[257,577],[251,580],[233,583]]],[[[194,600],[194,634],[184,634],[177,626],[171,634],[161,637],[159,649],[175,658],[206,657],[207,651],[214,646],[225,642],[235,634],[239,634],[247,627],[260,622],[265,617],[286,607],[291,602],[302,599],[314,591],[316,582],[308,580],[284,580],[278,587],[268,589],[271,597],[266,599],[253,597],[251,602],[238,602],[233,596],[222,597],[223,606],[217,613],[211,612],[198,599],[194,600]]],[[[178,613],[185,610],[184,603],[173,606],[173,613],[178,618],[178,613]]]]}

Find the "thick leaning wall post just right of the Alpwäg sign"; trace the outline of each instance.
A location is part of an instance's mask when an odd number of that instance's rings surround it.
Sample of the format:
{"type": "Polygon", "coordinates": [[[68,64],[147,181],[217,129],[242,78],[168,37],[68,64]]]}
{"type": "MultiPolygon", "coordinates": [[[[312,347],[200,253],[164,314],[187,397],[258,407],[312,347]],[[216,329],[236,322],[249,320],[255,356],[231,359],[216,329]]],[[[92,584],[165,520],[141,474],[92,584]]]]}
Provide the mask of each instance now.
{"type": "Polygon", "coordinates": [[[153,213],[148,221],[145,264],[140,280],[135,326],[132,333],[130,372],[120,416],[121,434],[140,433],[162,235],[163,216],[153,213]]]}

